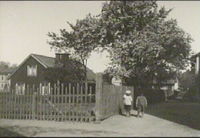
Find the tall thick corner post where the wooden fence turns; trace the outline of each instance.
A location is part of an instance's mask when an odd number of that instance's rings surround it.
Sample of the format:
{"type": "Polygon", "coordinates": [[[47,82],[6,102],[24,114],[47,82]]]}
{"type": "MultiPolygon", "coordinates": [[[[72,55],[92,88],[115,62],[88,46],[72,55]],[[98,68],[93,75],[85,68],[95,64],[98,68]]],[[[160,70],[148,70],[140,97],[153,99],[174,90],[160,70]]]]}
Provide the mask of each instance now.
{"type": "Polygon", "coordinates": [[[96,104],[95,104],[95,117],[96,117],[96,122],[100,122],[102,116],[102,89],[103,89],[103,80],[102,80],[102,75],[97,74],[96,75],[96,94],[95,94],[95,99],[96,99],[96,104]]]}

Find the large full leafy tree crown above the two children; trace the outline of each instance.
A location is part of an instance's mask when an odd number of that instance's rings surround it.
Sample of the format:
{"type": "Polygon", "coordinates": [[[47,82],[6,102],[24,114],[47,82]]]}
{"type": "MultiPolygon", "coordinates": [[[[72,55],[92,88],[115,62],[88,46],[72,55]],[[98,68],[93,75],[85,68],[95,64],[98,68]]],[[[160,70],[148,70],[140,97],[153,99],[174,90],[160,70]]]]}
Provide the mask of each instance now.
{"type": "MultiPolygon", "coordinates": [[[[110,52],[113,75],[134,78],[138,85],[152,78],[166,80],[184,69],[190,55],[189,34],[171,10],[158,9],[156,1],[111,1],[102,8],[99,44],[110,52]]],[[[160,81],[158,81],[160,82],[160,81]]]]}

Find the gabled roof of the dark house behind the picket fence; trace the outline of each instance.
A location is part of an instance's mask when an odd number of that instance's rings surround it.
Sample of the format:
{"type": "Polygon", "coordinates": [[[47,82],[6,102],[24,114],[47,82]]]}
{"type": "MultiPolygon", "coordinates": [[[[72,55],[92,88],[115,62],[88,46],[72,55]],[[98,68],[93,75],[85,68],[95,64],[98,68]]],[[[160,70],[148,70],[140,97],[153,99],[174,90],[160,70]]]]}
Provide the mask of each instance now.
{"type": "MultiPolygon", "coordinates": [[[[30,54],[19,66],[18,68],[10,75],[10,77],[15,74],[15,72],[28,60],[30,57],[33,57],[35,60],[37,60],[42,66],[45,68],[54,68],[55,67],[55,58],[53,57],[47,57],[43,55],[38,54],[30,54]]],[[[78,62],[70,59],[70,62],[78,62]]],[[[69,62],[69,63],[70,63],[69,62]]],[[[79,62],[80,63],[80,62],[79,62]]],[[[81,63],[80,63],[81,64],[81,63]]],[[[70,64],[68,64],[70,65],[70,64]]],[[[95,73],[87,67],[87,78],[88,80],[95,80],[95,73]]],[[[9,77],[9,78],[10,78],[9,77]]]]}

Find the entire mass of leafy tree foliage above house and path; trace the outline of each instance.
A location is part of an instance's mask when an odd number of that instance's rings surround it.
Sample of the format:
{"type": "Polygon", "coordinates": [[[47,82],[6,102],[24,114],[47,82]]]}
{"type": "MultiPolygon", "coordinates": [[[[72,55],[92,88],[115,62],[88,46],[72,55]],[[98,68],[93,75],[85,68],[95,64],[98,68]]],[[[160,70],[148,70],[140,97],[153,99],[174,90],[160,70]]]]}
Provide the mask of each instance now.
{"type": "Polygon", "coordinates": [[[79,59],[87,59],[98,48],[107,50],[107,72],[135,84],[166,80],[187,66],[192,41],[176,20],[167,19],[170,11],[159,9],[155,0],[105,2],[98,16],[68,23],[71,32],[49,33],[49,44],[79,59]]]}

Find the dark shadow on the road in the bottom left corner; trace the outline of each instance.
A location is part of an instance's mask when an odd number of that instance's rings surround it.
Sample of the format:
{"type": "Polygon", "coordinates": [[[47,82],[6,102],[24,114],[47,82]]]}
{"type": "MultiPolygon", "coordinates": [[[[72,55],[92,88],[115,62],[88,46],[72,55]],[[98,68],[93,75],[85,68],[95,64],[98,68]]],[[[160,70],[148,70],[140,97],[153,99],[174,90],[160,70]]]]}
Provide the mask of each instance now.
{"type": "Polygon", "coordinates": [[[0,127],[0,137],[25,137],[17,132],[11,131],[8,128],[0,127]]]}

